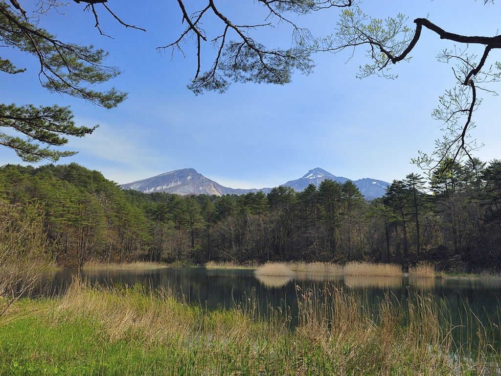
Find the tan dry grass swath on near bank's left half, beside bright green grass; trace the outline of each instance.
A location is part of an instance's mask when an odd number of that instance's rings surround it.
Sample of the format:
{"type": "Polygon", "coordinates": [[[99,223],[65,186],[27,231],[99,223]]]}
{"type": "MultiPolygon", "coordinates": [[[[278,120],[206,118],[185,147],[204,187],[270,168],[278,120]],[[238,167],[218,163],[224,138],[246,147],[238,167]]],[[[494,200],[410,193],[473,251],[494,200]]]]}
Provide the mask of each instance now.
{"type": "Polygon", "coordinates": [[[212,341],[238,341],[253,335],[262,329],[249,320],[258,316],[257,309],[255,299],[251,298],[246,306],[235,307],[229,317],[227,311],[206,311],[189,305],[172,290],[152,292],[141,285],[91,286],[77,278],[73,278],[57,307],[59,319],[70,313],[100,322],[111,341],[133,336],[154,343],[173,341],[178,345],[205,335],[212,341]]]}

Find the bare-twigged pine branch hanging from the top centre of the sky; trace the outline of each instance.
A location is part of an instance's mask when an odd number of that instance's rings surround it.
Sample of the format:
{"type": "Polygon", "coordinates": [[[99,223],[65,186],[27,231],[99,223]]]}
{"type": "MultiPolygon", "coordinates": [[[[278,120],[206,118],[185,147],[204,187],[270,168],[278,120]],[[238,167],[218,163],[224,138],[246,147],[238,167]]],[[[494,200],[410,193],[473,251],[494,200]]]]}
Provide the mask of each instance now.
{"type": "Polygon", "coordinates": [[[291,82],[294,70],[304,74],[311,73],[314,63],[311,59],[310,42],[313,39],[308,29],[298,27],[285,14],[305,15],[311,12],[328,8],[344,8],[353,5],[352,0],[258,0],[258,4],[269,12],[262,24],[238,25],[230,21],[216,7],[213,0],[191,15],[188,14],[182,0],[177,0],[182,13],[182,23],[186,21],[186,29],[180,37],[158,51],[167,49],[174,52],[184,52],[182,43],[190,39],[196,41],[197,68],[193,81],[188,88],[195,94],[205,91],[225,92],[231,81],[255,82],[284,85],[291,82]],[[202,20],[212,14],[222,25],[221,34],[208,38],[201,28],[202,20]],[[269,20],[276,20],[273,23],[269,20]],[[293,46],[289,49],[268,48],[250,36],[250,32],[257,28],[274,28],[279,24],[292,27],[293,46]],[[234,39],[233,39],[234,38],[234,39]],[[201,66],[202,44],[210,41],[216,51],[212,66],[204,73],[201,66]]]}

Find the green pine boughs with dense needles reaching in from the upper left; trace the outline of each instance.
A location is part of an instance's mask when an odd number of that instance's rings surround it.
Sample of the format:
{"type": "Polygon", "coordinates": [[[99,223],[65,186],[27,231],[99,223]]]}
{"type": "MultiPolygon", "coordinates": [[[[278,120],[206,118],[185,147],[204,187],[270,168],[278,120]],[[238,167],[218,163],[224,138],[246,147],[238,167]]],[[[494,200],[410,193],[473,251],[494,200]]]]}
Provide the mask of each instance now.
{"type": "MultiPolygon", "coordinates": [[[[120,74],[116,67],[103,64],[107,57],[105,51],[61,42],[56,36],[39,28],[37,22],[30,22],[16,1],[11,3],[9,5],[0,1],[0,44],[37,59],[42,86],[50,92],[82,98],[108,109],[126,99],[127,93],[115,88],[104,92],[91,89],[91,86],[120,74]]],[[[0,58],[0,71],[20,74],[25,70],[18,69],[8,59],[0,58]]],[[[97,127],[77,126],[69,106],[56,104],[37,107],[33,104],[0,103],[0,124],[0,127],[8,128],[7,133],[0,131],[0,144],[14,149],[26,162],[38,162],[41,159],[56,161],[60,157],[74,155],[74,151],[61,151],[51,146],[66,144],[66,136],[91,134],[97,127]],[[11,135],[13,131],[19,135],[11,135]]]]}

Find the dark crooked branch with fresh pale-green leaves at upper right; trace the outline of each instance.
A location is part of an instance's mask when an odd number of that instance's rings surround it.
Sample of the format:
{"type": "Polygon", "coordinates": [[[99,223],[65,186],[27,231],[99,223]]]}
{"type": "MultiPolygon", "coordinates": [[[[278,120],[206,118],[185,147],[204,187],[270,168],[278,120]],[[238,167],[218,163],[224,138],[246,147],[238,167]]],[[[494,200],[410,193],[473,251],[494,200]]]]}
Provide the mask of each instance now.
{"type": "MultiPolygon", "coordinates": [[[[485,0],[484,4],[489,3],[485,0]]],[[[350,49],[354,54],[359,46],[365,46],[367,57],[371,63],[360,66],[358,78],[378,75],[394,79],[397,75],[389,71],[392,65],[400,61],[409,61],[409,54],[417,45],[423,27],[437,34],[440,39],[466,45],[463,49],[444,50],[437,56],[438,61],[449,63],[457,61],[453,68],[457,86],[446,91],[439,98],[440,105],[433,111],[433,118],[444,123],[445,132],[442,139],[435,142],[435,150],[430,155],[419,152],[413,162],[424,169],[435,169],[442,161],[459,160],[466,156],[473,162],[471,152],[478,148],[475,141],[469,140],[469,131],[474,127],[473,112],[478,108],[481,99],[477,90],[494,93],[483,86],[485,83],[499,81],[501,65],[495,62],[486,68],[489,53],[501,48],[501,36],[482,37],[464,36],[447,32],[427,19],[414,20],[415,29],[407,26],[408,18],[398,14],[395,18],[375,19],[365,15],[360,8],[345,10],[340,15],[336,33],[314,43],[317,52],[339,53],[350,49]],[[466,53],[468,45],[483,45],[484,52],[480,59],[476,55],[466,53]],[[493,71],[493,69],[497,71],[493,71]]],[[[353,56],[353,55],[352,55],[353,56]]]]}

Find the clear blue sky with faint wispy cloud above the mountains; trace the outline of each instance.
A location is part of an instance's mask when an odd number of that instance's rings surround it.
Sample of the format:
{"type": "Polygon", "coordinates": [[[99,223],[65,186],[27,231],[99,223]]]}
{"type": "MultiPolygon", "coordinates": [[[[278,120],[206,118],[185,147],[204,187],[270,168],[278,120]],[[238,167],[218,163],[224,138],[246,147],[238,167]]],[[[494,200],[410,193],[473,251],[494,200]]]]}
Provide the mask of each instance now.
{"type": "MultiPolygon", "coordinates": [[[[33,0],[25,0],[29,8],[33,0]]],[[[205,2],[186,1],[188,12],[205,2]]],[[[27,72],[0,72],[0,101],[18,105],[33,103],[71,105],[78,125],[100,127],[85,138],[72,138],[68,149],[76,156],[60,163],[77,162],[119,183],[191,167],[204,176],[232,188],[261,188],[296,179],[309,169],[321,167],[351,179],[371,177],[385,181],[419,172],[410,159],[418,150],[433,151],[441,124],[430,116],[438,97],[454,86],[452,65],[435,56],[454,44],[423,30],[410,63],[393,68],[396,80],[355,76],[368,60],[363,49],[350,54],[316,54],[317,66],[309,76],[296,73],[285,86],[233,84],[225,94],[195,96],[186,88],[196,71],[194,44],[185,45],[186,58],[159,54],[184,30],[175,0],[137,2],[109,0],[110,8],[124,22],[147,30],[125,29],[102,8],[99,35],[84,4],[43,17],[40,26],[67,42],[93,44],[109,51],[108,65],[118,65],[122,75],[110,81],[129,92],[118,108],[105,110],[68,96],[50,94],[38,82],[37,62],[15,50],[0,49],[27,72]]],[[[235,23],[261,23],[266,12],[253,0],[219,0],[216,5],[235,23]]],[[[441,28],[465,35],[494,36],[501,20],[499,5],[474,0],[366,0],[362,10],[374,17],[403,13],[409,25],[427,17],[441,28]]],[[[318,37],[335,31],[339,10],[294,17],[318,37]]],[[[207,34],[220,30],[216,20],[203,25],[207,34]]],[[[271,47],[290,46],[291,30],[281,25],[255,32],[256,39],[271,47]]],[[[205,67],[213,52],[209,43],[202,51],[205,67]]],[[[471,49],[480,53],[481,50],[471,49]]],[[[489,63],[499,52],[489,56],[489,63]]],[[[491,88],[501,90],[499,85],[491,88]]],[[[472,135],[485,146],[482,160],[501,158],[499,111],[501,99],[481,94],[484,102],[475,113],[472,135]]],[[[0,147],[0,164],[21,163],[15,152],[0,147]]],[[[43,162],[45,163],[45,162],[43,162]]]]}

